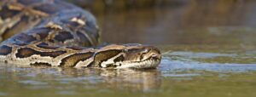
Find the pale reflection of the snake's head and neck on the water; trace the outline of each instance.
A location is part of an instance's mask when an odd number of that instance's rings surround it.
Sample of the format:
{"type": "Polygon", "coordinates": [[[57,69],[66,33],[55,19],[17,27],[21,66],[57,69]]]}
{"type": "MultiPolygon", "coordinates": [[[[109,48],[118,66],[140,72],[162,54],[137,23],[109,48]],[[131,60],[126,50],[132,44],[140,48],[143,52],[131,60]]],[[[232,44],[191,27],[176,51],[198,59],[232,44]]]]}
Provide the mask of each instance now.
{"type": "MultiPolygon", "coordinates": [[[[43,69],[43,72],[47,69],[43,69]]],[[[51,69],[54,70],[54,69],[51,69]]],[[[33,70],[30,70],[33,72],[33,70]]],[[[47,70],[48,71],[48,70],[47,70]]],[[[157,90],[161,86],[161,74],[157,69],[149,70],[131,70],[131,69],[76,69],[76,68],[56,68],[55,74],[59,75],[59,71],[62,76],[75,77],[88,77],[86,81],[92,81],[94,87],[104,88],[132,88],[132,91],[137,90],[157,90]],[[90,78],[89,78],[90,77],[90,78]],[[94,78],[91,78],[94,77],[94,78]],[[96,84],[97,83],[97,84],[96,84]]],[[[32,73],[29,72],[29,73],[32,73]]],[[[38,73],[40,73],[39,71],[38,73]]],[[[52,72],[51,72],[52,73],[52,72]]],[[[34,74],[34,73],[33,73],[34,74]]],[[[45,73],[44,73],[45,74],[45,73]]],[[[46,73],[47,74],[47,73],[46,73]]],[[[47,75],[48,78],[53,75],[47,75]]],[[[38,77],[40,79],[40,77],[38,77]]],[[[60,80],[55,80],[60,81],[60,80]]],[[[82,81],[85,82],[86,81],[82,81]]],[[[86,83],[88,85],[88,83],[86,83]]]]}

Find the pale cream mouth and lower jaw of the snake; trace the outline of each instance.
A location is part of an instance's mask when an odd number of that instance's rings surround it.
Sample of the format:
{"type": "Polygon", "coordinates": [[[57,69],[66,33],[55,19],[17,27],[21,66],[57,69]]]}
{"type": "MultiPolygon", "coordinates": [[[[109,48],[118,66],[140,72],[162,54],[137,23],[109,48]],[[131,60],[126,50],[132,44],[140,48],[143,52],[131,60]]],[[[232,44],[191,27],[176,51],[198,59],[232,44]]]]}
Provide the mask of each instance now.
{"type": "Polygon", "coordinates": [[[151,57],[148,60],[143,61],[130,61],[130,62],[122,62],[119,63],[119,66],[116,66],[116,69],[123,68],[134,68],[134,69],[148,69],[148,68],[156,68],[160,64],[160,59],[151,57]]]}

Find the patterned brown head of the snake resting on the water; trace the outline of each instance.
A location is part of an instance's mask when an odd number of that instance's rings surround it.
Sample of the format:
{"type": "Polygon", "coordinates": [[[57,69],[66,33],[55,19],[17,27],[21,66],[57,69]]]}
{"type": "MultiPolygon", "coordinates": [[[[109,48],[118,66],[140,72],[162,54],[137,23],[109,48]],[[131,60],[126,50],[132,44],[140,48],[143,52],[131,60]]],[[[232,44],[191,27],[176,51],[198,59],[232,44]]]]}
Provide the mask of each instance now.
{"type": "Polygon", "coordinates": [[[109,45],[94,56],[96,66],[107,68],[155,68],[160,59],[158,48],[141,44],[109,45]]]}

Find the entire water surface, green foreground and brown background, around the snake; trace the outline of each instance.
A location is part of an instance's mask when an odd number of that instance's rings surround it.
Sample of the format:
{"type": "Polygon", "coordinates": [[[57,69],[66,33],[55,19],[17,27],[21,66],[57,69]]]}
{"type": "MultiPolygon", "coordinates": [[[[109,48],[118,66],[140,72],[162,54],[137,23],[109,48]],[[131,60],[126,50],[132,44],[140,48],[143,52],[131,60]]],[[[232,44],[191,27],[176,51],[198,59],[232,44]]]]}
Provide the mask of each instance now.
{"type": "Polygon", "coordinates": [[[160,66],[138,71],[2,64],[0,96],[256,96],[255,4],[96,13],[103,42],[155,45],[163,54],[160,66]]]}

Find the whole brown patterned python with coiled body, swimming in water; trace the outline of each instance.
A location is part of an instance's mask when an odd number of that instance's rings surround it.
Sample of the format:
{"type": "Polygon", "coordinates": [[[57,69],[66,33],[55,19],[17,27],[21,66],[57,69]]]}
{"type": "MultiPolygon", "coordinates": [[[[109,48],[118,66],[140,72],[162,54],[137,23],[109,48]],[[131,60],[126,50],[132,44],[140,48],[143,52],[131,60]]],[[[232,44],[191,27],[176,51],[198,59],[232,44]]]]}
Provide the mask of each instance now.
{"type": "Polygon", "coordinates": [[[160,64],[160,51],[152,46],[84,48],[99,42],[96,20],[61,0],[1,0],[0,32],[4,40],[0,60],[11,64],[109,68],[154,68],[160,64]]]}

